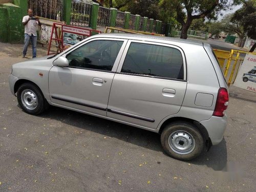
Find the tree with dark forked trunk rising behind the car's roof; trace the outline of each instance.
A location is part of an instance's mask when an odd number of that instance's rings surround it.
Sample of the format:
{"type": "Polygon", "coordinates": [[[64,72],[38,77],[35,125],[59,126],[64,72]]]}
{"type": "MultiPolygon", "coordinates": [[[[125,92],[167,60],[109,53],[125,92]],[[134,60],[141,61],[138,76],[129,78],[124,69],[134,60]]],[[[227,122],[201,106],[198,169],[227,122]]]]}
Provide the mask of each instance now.
{"type": "Polygon", "coordinates": [[[181,24],[181,38],[187,38],[187,30],[194,19],[217,19],[221,10],[227,10],[232,5],[238,5],[241,0],[161,0],[163,8],[175,10],[177,20],[181,24]]]}

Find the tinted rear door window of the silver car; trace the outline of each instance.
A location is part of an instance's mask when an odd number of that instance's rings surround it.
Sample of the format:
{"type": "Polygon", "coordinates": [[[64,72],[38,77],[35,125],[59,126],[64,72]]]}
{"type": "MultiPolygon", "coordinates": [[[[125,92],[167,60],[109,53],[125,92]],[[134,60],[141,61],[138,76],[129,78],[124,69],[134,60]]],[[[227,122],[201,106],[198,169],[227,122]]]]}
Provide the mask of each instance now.
{"type": "Polygon", "coordinates": [[[183,58],[175,48],[132,42],[121,72],[184,79],[183,58]]]}

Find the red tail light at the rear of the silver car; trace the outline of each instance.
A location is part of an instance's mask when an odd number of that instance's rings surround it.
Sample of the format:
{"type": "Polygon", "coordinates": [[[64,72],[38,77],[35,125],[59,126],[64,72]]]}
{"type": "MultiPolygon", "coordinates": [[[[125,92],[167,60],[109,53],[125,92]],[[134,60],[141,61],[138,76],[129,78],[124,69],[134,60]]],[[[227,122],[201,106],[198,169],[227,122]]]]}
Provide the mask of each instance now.
{"type": "Polygon", "coordinates": [[[215,105],[215,110],[213,116],[223,117],[225,115],[225,110],[228,105],[228,92],[225,88],[220,88],[218,91],[217,101],[215,105]]]}

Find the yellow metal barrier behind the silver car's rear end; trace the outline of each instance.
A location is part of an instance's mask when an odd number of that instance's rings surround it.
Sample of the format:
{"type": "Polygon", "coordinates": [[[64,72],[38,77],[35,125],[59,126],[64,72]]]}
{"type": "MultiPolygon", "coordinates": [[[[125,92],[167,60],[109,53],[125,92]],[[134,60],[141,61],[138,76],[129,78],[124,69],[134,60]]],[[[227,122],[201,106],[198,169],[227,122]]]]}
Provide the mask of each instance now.
{"type": "Polygon", "coordinates": [[[216,57],[218,58],[220,67],[227,80],[228,86],[230,84],[233,84],[234,80],[237,77],[239,67],[241,66],[244,60],[244,57],[241,57],[240,53],[249,53],[256,55],[256,53],[250,53],[246,51],[239,51],[233,49],[231,49],[231,51],[214,49],[214,52],[216,57]]]}

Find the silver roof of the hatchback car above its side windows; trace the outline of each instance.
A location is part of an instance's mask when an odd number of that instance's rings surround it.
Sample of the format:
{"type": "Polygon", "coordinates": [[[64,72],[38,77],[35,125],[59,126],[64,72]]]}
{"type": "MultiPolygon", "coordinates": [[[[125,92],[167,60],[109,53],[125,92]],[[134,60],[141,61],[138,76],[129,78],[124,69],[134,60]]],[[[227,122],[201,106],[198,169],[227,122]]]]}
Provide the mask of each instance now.
{"type": "Polygon", "coordinates": [[[101,36],[101,37],[121,37],[121,38],[127,38],[127,39],[138,39],[142,38],[145,40],[165,40],[165,41],[176,41],[176,42],[185,42],[188,44],[196,44],[196,45],[203,45],[203,42],[200,41],[194,41],[194,40],[187,40],[187,39],[181,39],[178,37],[165,37],[165,36],[156,36],[156,35],[144,35],[144,34],[134,34],[134,33],[103,33],[98,34],[94,36],[101,36]]]}

